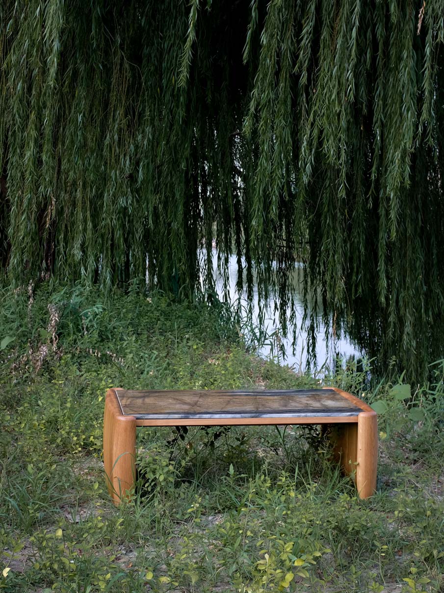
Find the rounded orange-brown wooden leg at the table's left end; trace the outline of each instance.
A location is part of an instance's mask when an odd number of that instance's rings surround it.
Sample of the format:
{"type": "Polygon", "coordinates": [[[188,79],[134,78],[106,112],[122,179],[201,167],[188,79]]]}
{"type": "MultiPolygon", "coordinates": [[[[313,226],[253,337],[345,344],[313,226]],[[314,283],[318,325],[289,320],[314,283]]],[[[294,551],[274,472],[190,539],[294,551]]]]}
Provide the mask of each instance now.
{"type": "Polygon", "coordinates": [[[136,476],[136,418],[123,416],[110,389],[105,398],[103,455],[108,492],[115,505],[127,498],[136,476]]]}

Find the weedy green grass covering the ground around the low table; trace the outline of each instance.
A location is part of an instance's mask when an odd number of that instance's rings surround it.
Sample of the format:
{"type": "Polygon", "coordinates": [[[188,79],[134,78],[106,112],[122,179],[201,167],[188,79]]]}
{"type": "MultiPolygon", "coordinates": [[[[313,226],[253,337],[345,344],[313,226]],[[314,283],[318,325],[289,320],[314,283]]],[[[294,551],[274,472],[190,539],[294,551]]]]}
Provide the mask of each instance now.
{"type": "Polygon", "coordinates": [[[326,378],[382,406],[371,499],[356,498],[317,431],[160,428],[138,432],[136,495],[114,508],[101,461],[108,387],[316,378],[249,355],[220,305],[49,283],[0,299],[0,589],[443,591],[441,366],[408,398],[402,378],[373,390],[350,368],[326,378]]]}

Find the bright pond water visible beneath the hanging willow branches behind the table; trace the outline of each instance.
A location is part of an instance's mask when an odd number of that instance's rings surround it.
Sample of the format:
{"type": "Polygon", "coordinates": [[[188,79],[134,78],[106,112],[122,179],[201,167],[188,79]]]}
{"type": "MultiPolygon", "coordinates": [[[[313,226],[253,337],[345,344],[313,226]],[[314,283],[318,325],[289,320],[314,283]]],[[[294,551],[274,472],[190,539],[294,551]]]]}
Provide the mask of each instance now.
{"type": "MultiPolygon", "coordinates": [[[[227,270],[229,274],[229,281],[230,281],[230,288],[229,288],[229,300],[231,304],[235,304],[239,299],[239,294],[236,291],[236,278],[237,278],[237,259],[236,256],[231,255],[229,259],[229,269],[227,270]]],[[[216,289],[217,294],[221,300],[223,300],[224,292],[223,292],[223,277],[220,273],[217,272],[217,252],[213,250],[213,275],[216,280],[216,289]]],[[[253,302],[253,324],[258,323],[258,315],[259,315],[259,305],[258,305],[258,290],[257,286],[254,286],[254,302],[253,302]]],[[[240,297],[243,299],[244,304],[246,305],[246,292],[243,293],[240,297]]],[[[268,343],[265,343],[259,349],[259,356],[262,358],[269,358],[274,357],[278,359],[278,362],[281,364],[288,364],[295,371],[304,371],[305,366],[307,364],[307,331],[302,326],[303,320],[303,304],[302,304],[302,295],[295,294],[295,307],[296,307],[296,319],[297,319],[297,328],[298,328],[298,337],[297,343],[295,345],[294,352],[292,351],[292,335],[288,338],[282,337],[279,332],[279,321],[278,321],[278,313],[274,314],[274,311],[268,311],[266,320],[265,320],[265,331],[267,334],[271,335],[274,334],[274,338],[268,340],[268,343]],[[279,337],[277,337],[279,336],[279,337]],[[281,340],[282,345],[285,349],[285,361],[282,360],[282,356],[279,354],[278,350],[278,340],[281,340]]],[[[246,307],[243,307],[246,310],[246,307]]],[[[316,366],[313,368],[311,367],[311,371],[321,372],[326,367],[332,368],[334,359],[336,358],[337,353],[344,358],[348,358],[350,355],[359,356],[360,352],[357,350],[352,343],[349,342],[346,336],[336,337],[333,339],[332,336],[329,336],[329,342],[327,346],[326,336],[325,336],[325,326],[322,323],[321,317],[318,317],[319,329],[317,333],[317,340],[316,340],[316,366]]],[[[292,334],[292,330],[289,331],[289,334],[292,334]]]]}

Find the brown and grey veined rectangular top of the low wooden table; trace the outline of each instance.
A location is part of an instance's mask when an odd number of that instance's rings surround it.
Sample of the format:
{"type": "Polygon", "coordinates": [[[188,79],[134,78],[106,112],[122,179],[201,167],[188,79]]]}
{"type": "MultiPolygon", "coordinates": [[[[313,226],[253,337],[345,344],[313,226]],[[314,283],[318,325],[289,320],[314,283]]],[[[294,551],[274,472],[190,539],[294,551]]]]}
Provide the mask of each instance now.
{"type": "MultiPolygon", "coordinates": [[[[135,416],[138,424],[178,424],[211,419],[221,423],[267,423],[271,419],[336,418],[356,422],[369,407],[344,391],[242,390],[242,391],[131,391],[115,390],[121,413],[135,416]],[[146,422],[142,422],[146,421],[146,422]],[[158,421],[158,422],[156,422],[158,421]],[[243,422],[242,422],[243,423],[243,422]]],[[[193,422],[194,423],[194,422],[193,422]]],[[[316,423],[316,422],[315,422],[316,423]]]]}

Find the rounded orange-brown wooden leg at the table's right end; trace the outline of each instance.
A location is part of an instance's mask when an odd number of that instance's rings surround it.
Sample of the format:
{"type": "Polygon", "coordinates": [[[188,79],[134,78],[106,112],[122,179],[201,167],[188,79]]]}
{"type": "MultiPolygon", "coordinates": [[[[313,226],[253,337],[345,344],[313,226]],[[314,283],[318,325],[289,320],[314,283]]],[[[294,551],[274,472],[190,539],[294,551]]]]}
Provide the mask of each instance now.
{"type": "Polygon", "coordinates": [[[337,424],[330,431],[336,460],[353,477],[359,498],[375,493],[378,468],[378,417],[361,412],[358,423],[337,424]]]}

